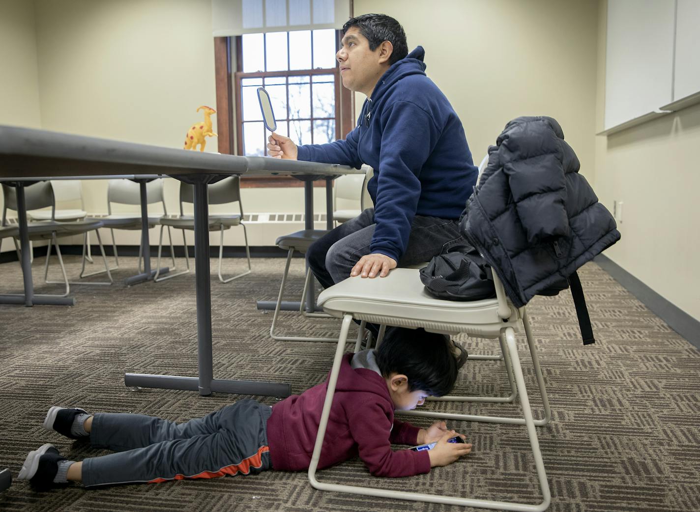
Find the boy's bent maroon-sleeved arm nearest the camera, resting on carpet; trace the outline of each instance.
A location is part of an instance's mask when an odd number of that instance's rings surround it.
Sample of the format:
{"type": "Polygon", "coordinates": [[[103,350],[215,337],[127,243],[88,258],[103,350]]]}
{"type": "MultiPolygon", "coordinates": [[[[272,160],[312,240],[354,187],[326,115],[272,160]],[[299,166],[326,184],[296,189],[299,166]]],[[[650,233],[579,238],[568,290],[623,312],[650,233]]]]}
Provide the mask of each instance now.
{"type": "Polygon", "coordinates": [[[391,422],[379,404],[361,408],[348,418],[360,459],[374,476],[414,476],[430,471],[427,452],[391,449],[391,422]]]}

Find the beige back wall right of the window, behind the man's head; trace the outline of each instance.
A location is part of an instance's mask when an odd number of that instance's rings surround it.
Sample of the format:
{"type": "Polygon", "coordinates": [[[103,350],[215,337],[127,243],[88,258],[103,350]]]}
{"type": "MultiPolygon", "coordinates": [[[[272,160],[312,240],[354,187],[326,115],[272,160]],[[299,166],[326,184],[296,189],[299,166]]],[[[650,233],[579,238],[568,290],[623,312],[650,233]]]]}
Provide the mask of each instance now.
{"type": "Polygon", "coordinates": [[[595,1],[355,0],[354,13],[395,17],[409,51],[425,48],[426,74],[462,120],[476,164],[512,118],[551,115],[593,181],[595,1]]]}

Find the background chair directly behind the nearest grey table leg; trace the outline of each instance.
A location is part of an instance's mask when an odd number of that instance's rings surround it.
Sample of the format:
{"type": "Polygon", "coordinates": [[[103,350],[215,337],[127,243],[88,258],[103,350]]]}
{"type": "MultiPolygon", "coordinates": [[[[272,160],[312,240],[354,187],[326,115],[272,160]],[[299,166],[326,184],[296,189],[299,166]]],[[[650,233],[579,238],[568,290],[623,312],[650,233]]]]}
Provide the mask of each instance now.
{"type": "MultiPolygon", "coordinates": [[[[229,176],[217,183],[207,186],[207,197],[209,204],[230,204],[238,203],[240,213],[209,213],[209,232],[218,231],[219,238],[219,258],[218,258],[218,278],[222,283],[230,283],[232,280],[239,277],[247,276],[251,273],[251,250],[248,247],[248,232],[246,225],[243,223],[243,204],[241,202],[240,177],[229,176]],[[243,227],[243,236],[246,241],[246,257],[248,258],[248,270],[237,273],[230,278],[224,278],[221,274],[221,260],[223,259],[223,232],[225,229],[230,229],[232,226],[243,227]]],[[[185,230],[193,231],[195,229],[195,216],[186,215],[183,204],[194,203],[194,187],[186,183],[180,183],[180,215],[176,217],[163,216],[160,218],[160,239],[158,241],[158,263],[156,264],[155,276],[153,280],[159,282],[176,276],[181,276],[183,273],[190,271],[190,256],[188,255],[187,241],[185,239],[185,230]],[[182,241],[185,249],[186,270],[177,273],[168,273],[166,276],[159,278],[160,274],[160,255],[163,247],[163,228],[174,227],[182,229],[182,241]]],[[[171,241],[172,250],[172,241],[171,241]]]]}

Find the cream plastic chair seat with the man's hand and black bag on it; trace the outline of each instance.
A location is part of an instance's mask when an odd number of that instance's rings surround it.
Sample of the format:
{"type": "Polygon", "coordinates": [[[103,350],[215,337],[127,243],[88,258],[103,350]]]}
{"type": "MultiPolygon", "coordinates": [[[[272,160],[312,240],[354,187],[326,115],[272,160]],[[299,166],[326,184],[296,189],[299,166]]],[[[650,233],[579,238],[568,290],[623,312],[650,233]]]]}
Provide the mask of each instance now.
{"type": "Polygon", "coordinates": [[[465,332],[497,338],[500,329],[519,330],[519,311],[508,303],[510,320],[498,315],[498,300],[448,301],[426,292],[417,269],[393,269],[385,278],[347,278],[318,296],[325,313],[379,324],[425,327],[429,331],[465,332]]]}

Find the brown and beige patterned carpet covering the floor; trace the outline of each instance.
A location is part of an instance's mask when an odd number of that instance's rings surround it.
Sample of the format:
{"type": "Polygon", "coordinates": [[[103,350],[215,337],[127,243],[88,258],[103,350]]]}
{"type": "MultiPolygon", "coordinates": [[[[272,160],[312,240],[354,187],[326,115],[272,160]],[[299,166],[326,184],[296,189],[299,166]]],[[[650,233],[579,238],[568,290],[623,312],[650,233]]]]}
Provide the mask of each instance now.
{"type": "MultiPolygon", "coordinates": [[[[78,258],[69,257],[69,272],[78,258]]],[[[214,267],[212,260],[212,268],[214,267]]],[[[122,411],[183,421],[214,411],[239,396],[129,390],[125,371],[196,376],[193,274],[124,287],[136,260],[123,259],[111,287],[74,287],[78,304],[0,306],[0,467],[16,477],[29,450],[54,443],[81,460],[95,450],[45,432],[52,405],[87,411],[122,411]]],[[[34,262],[39,282],[43,258],[34,262]]],[[[227,259],[229,272],[243,260],[227,259]]],[[[214,376],[290,383],[293,392],[323,380],[331,343],[269,339],[271,313],[255,299],[274,299],[283,259],[254,259],[253,273],[223,285],[212,279],[214,376]]],[[[552,491],[549,511],[700,510],[700,353],[654,316],[596,264],[580,271],[598,343],[582,346],[573,301],[537,297],[528,306],[552,406],[552,422],[537,429],[552,491]]],[[[19,291],[16,263],[0,265],[2,292],[19,291]]],[[[293,262],[290,294],[300,294],[302,259],[293,262]]],[[[42,286],[38,291],[59,292],[42,286]]],[[[338,320],[285,313],[293,334],[332,336],[338,320]]],[[[458,338],[470,353],[493,354],[498,343],[458,338]]],[[[519,349],[535,416],[541,400],[531,360],[519,349]]],[[[468,362],[460,394],[507,394],[503,362],[468,362]]],[[[274,399],[262,399],[273,404],[274,399]]],[[[435,404],[429,405],[431,407],[435,404]]],[[[447,404],[437,408],[447,411],[447,404]]],[[[517,414],[512,404],[466,408],[474,413],[517,414]]],[[[428,425],[429,420],[414,421],[428,425]]],[[[539,503],[524,427],[448,422],[474,443],[471,455],[412,478],[379,479],[349,461],[321,471],[321,481],[383,485],[482,499],[539,503]]],[[[97,452],[102,453],[102,452],[97,452]]],[[[0,493],[3,511],[458,511],[456,506],[398,502],[311,488],[304,473],[267,471],[258,476],[123,485],[84,490],[78,485],[38,494],[23,482],[0,493]]],[[[469,509],[467,509],[469,510],[469,509]]]]}

